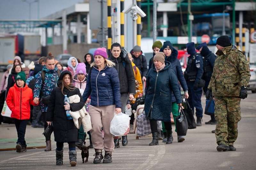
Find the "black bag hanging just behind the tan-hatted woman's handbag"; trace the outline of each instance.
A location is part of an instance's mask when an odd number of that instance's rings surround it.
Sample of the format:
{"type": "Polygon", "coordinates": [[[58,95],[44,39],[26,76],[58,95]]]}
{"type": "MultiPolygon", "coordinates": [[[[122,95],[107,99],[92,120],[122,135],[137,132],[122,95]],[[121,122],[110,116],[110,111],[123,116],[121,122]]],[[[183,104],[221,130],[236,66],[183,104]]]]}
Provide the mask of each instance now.
{"type": "Polygon", "coordinates": [[[188,129],[196,129],[196,120],[194,118],[194,111],[191,109],[187,99],[185,99],[183,107],[184,107],[183,111],[188,120],[188,129]]]}

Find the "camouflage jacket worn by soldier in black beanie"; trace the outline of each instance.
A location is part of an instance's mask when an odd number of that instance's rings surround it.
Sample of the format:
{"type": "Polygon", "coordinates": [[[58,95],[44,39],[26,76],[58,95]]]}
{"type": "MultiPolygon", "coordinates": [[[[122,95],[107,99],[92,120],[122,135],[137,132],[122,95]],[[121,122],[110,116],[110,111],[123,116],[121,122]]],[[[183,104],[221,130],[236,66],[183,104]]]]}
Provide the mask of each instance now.
{"type": "Polygon", "coordinates": [[[216,55],[208,89],[213,96],[239,97],[241,86],[248,86],[250,80],[249,61],[232,45],[217,51],[216,55]]]}

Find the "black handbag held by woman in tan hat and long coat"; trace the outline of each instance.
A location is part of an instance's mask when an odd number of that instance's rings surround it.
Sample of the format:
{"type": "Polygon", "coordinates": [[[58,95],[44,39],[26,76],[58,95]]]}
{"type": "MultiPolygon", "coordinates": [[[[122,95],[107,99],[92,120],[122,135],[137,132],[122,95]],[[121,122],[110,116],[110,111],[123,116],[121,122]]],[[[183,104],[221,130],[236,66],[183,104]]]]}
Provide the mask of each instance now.
{"type": "Polygon", "coordinates": [[[188,131],[188,120],[184,110],[180,107],[180,115],[176,117],[176,129],[178,136],[186,136],[188,131]]]}

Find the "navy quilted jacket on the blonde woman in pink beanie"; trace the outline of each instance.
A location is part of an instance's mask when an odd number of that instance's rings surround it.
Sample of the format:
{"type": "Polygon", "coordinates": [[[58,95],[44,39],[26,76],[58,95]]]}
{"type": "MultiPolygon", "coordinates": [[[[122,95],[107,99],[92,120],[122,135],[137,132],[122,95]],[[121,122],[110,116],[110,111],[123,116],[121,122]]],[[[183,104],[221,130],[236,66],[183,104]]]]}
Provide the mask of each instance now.
{"type": "Polygon", "coordinates": [[[106,66],[100,71],[96,66],[91,67],[83,94],[84,102],[90,95],[92,106],[115,104],[116,108],[121,108],[119,78],[114,67],[106,66]]]}

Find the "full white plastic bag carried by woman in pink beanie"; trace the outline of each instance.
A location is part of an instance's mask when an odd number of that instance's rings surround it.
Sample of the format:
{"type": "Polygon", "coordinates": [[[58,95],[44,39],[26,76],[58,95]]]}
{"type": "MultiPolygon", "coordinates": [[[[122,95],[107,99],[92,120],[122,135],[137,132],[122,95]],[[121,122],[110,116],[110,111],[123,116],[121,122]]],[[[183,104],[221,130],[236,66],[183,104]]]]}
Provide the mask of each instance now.
{"type": "Polygon", "coordinates": [[[124,113],[114,115],[110,122],[110,133],[114,136],[125,136],[130,131],[130,117],[124,113]]]}

